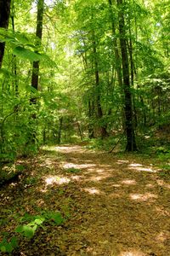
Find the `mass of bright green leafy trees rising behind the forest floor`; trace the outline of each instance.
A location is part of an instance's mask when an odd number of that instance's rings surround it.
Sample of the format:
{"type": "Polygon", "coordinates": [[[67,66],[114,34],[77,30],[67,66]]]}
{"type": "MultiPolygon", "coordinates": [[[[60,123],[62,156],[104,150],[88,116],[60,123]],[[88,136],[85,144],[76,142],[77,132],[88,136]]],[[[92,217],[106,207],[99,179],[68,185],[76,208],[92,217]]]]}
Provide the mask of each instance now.
{"type": "Polygon", "coordinates": [[[170,125],[169,1],[0,1],[2,158],[170,125]]]}

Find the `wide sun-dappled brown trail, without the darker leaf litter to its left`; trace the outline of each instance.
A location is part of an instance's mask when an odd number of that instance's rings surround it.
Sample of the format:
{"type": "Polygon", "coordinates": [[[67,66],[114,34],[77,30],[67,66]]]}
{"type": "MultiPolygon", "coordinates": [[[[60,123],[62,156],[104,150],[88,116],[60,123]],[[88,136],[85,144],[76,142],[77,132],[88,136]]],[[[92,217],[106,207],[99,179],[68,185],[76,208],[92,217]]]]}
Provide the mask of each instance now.
{"type": "Polygon", "coordinates": [[[169,185],[157,177],[151,163],[80,145],[55,150],[65,156],[61,172],[77,184],[71,195],[79,209],[77,235],[74,226],[70,236],[80,248],[71,245],[68,255],[170,255],[169,200],[164,196],[169,185]],[[74,250],[77,253],[71,254],[74,250]]]}

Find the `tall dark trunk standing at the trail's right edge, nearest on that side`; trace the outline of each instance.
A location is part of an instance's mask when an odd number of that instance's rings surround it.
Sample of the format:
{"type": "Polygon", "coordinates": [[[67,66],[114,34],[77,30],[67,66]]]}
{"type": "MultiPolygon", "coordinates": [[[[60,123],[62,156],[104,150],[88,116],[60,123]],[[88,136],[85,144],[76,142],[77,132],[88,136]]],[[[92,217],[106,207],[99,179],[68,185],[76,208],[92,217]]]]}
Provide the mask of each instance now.
{"type": "Polygon", "coordinates": [[[125,125],[127,134],[127,151],[137,150],[134,129],[133,129],[133,102],[130,90],[129,64],[127,56],[126,26],[122,9],[122,0],[116,0],[119,9],[119,37],[122,53],[122,77],[125,96],[125,125]]]}

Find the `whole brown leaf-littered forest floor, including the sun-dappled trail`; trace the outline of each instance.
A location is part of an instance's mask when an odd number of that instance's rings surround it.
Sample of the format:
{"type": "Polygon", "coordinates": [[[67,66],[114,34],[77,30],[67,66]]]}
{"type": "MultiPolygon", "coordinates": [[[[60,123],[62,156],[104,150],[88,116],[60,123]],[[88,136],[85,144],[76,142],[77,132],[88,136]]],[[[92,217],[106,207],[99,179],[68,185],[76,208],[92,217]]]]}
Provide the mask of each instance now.
{"type": "Polygon", "coordinates": [[[170,183],[154,159],[79,144],[43,148],[18,164],[25,175],[3,186],[0,203],[3,234],[19,240],[12,255],[170,255],[170,183]],[[40,224],[31,239],[16,235],[23,216],[44,212],[64,221],[40,224]]]}

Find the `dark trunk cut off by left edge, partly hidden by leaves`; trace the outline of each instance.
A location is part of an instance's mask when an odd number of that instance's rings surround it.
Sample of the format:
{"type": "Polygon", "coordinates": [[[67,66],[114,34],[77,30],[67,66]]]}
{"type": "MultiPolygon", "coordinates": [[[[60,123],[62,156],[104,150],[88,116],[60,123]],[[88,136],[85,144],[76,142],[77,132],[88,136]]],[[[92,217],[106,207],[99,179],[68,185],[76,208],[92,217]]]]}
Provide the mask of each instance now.
{"type": "MultiPolygon", "coordinates": [[[[0,0],[0,27],[8,29],[11,0],[0,0]]],[[[5,43],[0,43],[0,68],[3,64],[5,43]]]]}

